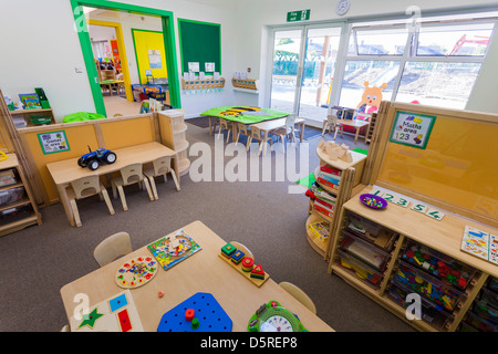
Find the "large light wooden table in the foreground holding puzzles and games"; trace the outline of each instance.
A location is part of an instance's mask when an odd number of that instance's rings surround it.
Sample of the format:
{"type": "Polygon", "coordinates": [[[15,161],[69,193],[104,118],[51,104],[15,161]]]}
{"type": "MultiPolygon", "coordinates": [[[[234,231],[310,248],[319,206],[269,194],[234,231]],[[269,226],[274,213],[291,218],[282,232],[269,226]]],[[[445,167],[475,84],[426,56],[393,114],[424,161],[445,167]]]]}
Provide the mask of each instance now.
{"type": "MultiPolygon", "coordinates": [[[[219,257],[221,247],[226,244],[218,235],[200,221],[194,221],[181,228],[203,248],[180,263],[165,271],[159,269],[155,278],[143,287],[132,290],[133,301],[147,332],[155,332],[163,314],[197,292],[210,293],[215,296],[232,321],[234,332],[247,332],[251,315],[263,303],[276,300],[299,315],[302,324],[310,332],[332,332],[333,330],[313,314],[301,302],[280,288],[270,275],[260,288],[246,279],[236,269],[219,257]],[[164,291],[159,298],[158,292],[164,291]]],[[[166,236],[158,235],[157,238],[166,236]]],[[[132,236],[133,237],[133,236],[132,236]]],[[[95,305],[122,292],[114,277],[123,262],[138,256],[151,256],[146,246],[86,274],[61,289],[68,319],[73,316],[80,302],[74,302],[79,293],[89,295],[89,305],[95,305]]],[[[264,260],[261,262],[264,269],[264,260]]],[[[95,262],[95,267],[97,263],[95,262]]],[[[268,270],[271,274],[271,269],[268,270]]]]}

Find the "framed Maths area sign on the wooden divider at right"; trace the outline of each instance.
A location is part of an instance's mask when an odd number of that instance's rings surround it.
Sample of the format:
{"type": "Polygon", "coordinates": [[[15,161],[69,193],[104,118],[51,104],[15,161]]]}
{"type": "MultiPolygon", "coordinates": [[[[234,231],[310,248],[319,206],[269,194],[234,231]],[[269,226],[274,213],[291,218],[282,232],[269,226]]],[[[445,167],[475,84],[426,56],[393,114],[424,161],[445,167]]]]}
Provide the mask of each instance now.
{"type": "Polygon", "coordinates": [[[434,115],[396,112],[390,142],[425,149],[435,121],[434,115]]]}

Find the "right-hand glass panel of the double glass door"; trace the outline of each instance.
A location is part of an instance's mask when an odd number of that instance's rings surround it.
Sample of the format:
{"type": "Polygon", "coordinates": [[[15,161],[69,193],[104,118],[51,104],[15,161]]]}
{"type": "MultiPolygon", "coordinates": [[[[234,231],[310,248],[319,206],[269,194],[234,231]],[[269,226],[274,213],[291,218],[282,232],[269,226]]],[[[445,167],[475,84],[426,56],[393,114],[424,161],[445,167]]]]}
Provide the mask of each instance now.
{"type": "Polygon", "coordinates": [[[340,41],[341,28],[308,29],[299,116],[325,118],[340,41]]]}

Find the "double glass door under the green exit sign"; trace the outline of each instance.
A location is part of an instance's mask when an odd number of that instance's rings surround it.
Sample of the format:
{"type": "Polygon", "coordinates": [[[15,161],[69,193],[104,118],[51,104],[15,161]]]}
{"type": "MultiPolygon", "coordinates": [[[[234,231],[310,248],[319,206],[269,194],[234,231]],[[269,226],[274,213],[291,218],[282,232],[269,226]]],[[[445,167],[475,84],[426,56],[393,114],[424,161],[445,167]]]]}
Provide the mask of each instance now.
{"type": "Polygon", "coordinates": [[[345,45],[344,28],[341,23],[273,31],[270,108],[321,126],[334,103],[333,77],[341,66],[338,53],[345,45]]]}

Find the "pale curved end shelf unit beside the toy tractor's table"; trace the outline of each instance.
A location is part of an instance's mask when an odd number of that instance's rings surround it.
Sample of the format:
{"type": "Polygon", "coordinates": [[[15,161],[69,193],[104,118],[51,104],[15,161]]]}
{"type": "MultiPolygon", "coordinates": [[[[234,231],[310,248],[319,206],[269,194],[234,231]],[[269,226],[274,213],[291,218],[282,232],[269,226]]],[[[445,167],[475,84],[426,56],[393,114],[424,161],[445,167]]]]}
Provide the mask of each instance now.
{"type": "Polygon", "coordinates": [[[188,159],[187,148],[189,143],[186,138],[188,128],[184,121],[184,112],[179,110],[167,110],[158,112],[159,129],[162,144],[176,152],[175,169],[179,176],[188,173],[190,160],[188,159]]]}

